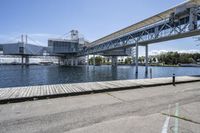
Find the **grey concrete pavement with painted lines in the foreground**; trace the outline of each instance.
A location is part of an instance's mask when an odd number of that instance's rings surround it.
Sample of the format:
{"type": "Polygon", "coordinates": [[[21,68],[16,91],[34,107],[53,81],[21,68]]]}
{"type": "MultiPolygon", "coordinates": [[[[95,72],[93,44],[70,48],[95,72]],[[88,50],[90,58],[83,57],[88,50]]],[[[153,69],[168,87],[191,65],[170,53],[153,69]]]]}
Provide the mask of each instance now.
{"type": "Polygon", "coordinates": [[[200,82],[143,87],[1,104],[0,132],[199,133],[199,110],[200,82]]]}

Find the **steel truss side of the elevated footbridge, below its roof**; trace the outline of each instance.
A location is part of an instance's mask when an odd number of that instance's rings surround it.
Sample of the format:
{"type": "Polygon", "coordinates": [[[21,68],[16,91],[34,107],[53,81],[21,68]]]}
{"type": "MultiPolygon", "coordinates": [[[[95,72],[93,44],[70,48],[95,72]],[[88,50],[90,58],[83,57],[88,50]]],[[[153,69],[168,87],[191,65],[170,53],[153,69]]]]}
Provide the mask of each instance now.
{"type": "Polygon", "coordinates": [[[156,24],[132,31],[118,38],[113,38],[94,47],[85,48],[79,52],[79,56],[134,47],[136,44],[145,46],[150,43],[190,37],[198,34],[200,34],[200,7],[195,8],[192,14],[190,13],[190,15],[182,17],[173,23],[170,18],[162,18],[162,21],[156,24]],[[191,15],[193,15],[193,19],[196,18],[192,23],[191,15]],[[195,27],[191,29],[191,25],[195,25],[195,27]]]}

